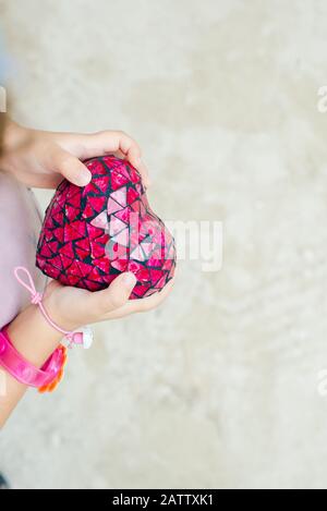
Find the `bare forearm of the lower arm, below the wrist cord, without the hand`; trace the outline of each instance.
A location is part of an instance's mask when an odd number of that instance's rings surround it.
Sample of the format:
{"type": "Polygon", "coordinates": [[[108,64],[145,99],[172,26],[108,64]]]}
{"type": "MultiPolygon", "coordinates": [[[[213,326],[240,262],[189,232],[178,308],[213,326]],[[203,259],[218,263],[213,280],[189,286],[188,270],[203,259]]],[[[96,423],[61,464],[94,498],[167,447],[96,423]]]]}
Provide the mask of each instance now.
{"type": "MultiPolygon", "coordinates": [[[[15,349],[33,365],[41,367],[58,346],[62,334],[47,324],[37,306],[31,305],[21,313],[8,327],[8,333],[15,349]]],[[[0,393],[0,428],[26,391],[20,384],[3,370],[0,393]]]]}

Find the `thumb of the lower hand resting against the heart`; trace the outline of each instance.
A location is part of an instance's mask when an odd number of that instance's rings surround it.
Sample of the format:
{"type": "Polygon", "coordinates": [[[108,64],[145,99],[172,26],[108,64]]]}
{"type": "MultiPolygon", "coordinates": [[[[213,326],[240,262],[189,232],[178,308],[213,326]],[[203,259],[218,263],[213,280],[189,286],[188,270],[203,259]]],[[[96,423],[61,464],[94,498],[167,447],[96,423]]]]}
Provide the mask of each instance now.
{"type": "Polygon", "coordinates": [[[116,311],[128,302],[135,283],[134,273],[122,273],[113,280],[108,289],[92,293],[88,305],[99,317],[116,311]]]}

